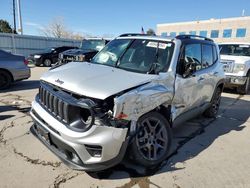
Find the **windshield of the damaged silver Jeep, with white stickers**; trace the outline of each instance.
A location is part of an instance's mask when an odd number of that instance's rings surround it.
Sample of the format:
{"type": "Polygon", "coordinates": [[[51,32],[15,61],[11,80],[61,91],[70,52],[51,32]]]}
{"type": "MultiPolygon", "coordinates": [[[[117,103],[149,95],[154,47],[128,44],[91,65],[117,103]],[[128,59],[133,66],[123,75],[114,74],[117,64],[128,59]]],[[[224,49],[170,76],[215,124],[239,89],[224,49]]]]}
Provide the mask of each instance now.
{"type": "Polygon", "coordinates": [[[92,59],[92,63],[139,73],[165,72],[170,64],[173,49],[172,42],[117,39],[106,45],[92,59]]]}

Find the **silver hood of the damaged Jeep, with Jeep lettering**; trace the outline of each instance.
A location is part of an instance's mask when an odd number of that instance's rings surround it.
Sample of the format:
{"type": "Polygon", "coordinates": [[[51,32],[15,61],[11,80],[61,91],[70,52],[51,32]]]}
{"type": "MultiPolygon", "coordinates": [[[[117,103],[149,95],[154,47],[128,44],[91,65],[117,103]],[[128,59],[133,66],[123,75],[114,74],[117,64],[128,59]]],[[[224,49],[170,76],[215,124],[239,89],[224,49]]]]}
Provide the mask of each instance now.
{"type": "Polygon", "coordinates": [[[151,81],[157,75],[140,74],[87,62],[71,62],[46,72],[41,80],[79,95],[106,99],[151,81]]]}

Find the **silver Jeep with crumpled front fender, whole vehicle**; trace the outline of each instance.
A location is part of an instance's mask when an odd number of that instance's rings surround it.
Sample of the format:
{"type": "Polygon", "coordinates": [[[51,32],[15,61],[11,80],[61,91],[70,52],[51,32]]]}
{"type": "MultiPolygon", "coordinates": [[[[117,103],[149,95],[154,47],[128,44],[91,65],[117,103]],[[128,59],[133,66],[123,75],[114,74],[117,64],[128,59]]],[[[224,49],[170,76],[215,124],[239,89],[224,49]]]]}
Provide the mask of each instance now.
{"type": "Polygon", "coordinates": [[[216,116],[223,86],[212,40],[124,34],[91,63],[41,77],[32,132],[74,169],[103,170],[126,152],[152,167],[166,159],[172,127],[202,113],[216,116]]]}

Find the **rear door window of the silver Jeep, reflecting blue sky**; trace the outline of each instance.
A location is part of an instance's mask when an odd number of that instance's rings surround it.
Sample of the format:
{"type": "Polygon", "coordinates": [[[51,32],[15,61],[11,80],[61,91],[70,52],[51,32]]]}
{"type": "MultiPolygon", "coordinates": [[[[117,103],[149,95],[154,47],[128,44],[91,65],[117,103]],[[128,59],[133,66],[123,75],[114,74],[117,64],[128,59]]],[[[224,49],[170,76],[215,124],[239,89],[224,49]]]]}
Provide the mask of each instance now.
{"type": "Polygon", "coordinates": [[[213,47],[212,45],[202,44],[202,68],[213,65],[213,47]]]}

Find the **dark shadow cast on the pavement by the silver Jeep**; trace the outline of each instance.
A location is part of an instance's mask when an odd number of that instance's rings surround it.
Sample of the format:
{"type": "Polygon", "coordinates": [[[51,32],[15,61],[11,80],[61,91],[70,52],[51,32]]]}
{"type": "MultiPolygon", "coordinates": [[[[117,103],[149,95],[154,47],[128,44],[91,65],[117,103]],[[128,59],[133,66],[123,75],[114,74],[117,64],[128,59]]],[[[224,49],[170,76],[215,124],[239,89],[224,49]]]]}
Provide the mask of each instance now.
{"type": "MultiPolygon", "coordinates": [[[[176,163],[183,163],[186,160],[196,157],[199,153],[206,150],[220,136],[226,135],[231,131],[243,130],[245,128],[243,124],[250,117],[250,101],[241,98],[242,96],[239,96],[237,99],[222,97],[221,110],[217,118],[205,119],[203,117],[198,117],[181,127],[175,128],[173,130],[174,141],[176,142],[176,145],[174,146],[175,148],[166,161],[156,168],[145,169],[126,160],[103,172],[88,174],[97,179],[131,178],[131,182],[129,182],[131,187],[134,185],[133,183],[136,184],[138,181],[145,180],[145,182],[148,182],[147,186],[149,186],[150,181],[147,179],[148,176],[181,170],[182,168],[175,167],[176,163]],[[192,126],[197,127],[194,129],[192,126]],[[193,129],[193,131],[190,131],[190,129],[193,129]],[[196,139],[195,142],[185,145],[194,138],[196,139]],[[179,152],[184,146],[185,152],[179,152]]],[[[130,187],[130,185],[126,184],[121,187],[130,187]]]]}

